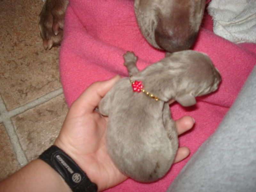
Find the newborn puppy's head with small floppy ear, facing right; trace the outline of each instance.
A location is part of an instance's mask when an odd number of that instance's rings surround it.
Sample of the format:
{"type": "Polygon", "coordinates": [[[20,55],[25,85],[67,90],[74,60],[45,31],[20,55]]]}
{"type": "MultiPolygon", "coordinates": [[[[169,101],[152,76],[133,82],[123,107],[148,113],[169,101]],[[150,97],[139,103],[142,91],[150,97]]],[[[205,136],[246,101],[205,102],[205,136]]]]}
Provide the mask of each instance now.
{"type": "Polygon", "coordinates": [[[167,56],[175,63],[174,77],[175,100],[187,107],[196,104],[196,96],[202,96],[218,89],[220,72],[204,53],[192,50],[175,52],[167,56]]]}

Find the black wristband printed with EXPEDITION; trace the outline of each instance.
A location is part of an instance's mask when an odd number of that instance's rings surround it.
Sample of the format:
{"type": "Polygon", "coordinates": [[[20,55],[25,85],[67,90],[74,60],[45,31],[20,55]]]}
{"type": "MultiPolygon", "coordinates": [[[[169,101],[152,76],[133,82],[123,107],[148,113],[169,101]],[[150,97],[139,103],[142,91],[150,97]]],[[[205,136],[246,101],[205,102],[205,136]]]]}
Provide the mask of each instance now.
{"type": "Polygon", "coordinates": [[[86,176],[80,167],[60,148],[52,145],[40,156],[44,162],[57,171],[74,192],[97,192],[98,187],[86,176]]]}

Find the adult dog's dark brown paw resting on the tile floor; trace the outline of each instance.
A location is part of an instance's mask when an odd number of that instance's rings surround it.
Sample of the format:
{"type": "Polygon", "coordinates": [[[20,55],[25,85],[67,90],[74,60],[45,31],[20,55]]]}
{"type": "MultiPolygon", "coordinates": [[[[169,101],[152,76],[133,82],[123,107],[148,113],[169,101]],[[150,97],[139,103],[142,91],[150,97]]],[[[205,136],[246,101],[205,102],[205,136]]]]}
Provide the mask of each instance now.
{"type": "Polygon", "coordinates": [[[44,49],[60,45],[68,0],[46,0],[39,15],[39,29],[44,49]]]}

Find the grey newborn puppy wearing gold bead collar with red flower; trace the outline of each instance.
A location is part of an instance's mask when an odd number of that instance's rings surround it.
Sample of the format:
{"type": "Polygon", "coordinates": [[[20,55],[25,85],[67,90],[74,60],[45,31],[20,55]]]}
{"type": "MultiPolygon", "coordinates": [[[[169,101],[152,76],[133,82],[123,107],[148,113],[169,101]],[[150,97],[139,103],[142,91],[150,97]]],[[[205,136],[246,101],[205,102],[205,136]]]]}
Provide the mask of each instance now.
{"type": "Polygon", "coordinates": [[[167,54],[140,72],[136,61],[132,52],[124,54],[131,77],[113,86],[99,112],[108,116],[107,150],[118,169],[134,180],[152,182],[168,172],[178,148],[168,101],[194,105],[196,96],[218,88],[221,77],[207,55],[191,50],[167,54]]]}

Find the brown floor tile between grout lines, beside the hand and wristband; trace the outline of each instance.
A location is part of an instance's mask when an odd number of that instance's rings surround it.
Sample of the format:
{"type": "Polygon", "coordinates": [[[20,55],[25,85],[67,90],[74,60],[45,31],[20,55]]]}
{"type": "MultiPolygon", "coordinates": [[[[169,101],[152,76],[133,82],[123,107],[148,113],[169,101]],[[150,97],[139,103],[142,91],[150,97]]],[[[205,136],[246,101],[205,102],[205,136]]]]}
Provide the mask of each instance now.
{"type": "Polygon", "coordinates": [[[12,118],[20,144],[29,161],[52,145],[58,136],[68,108],[60,95],[12,118]]]}

